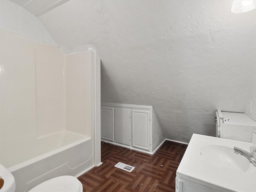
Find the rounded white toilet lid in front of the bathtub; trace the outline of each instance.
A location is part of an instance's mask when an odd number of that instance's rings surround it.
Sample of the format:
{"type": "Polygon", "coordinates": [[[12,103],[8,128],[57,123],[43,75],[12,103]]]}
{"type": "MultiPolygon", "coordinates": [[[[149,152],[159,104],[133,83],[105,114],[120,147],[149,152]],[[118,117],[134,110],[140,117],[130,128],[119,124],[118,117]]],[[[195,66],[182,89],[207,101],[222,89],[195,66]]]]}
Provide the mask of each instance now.
{"type": "Polygon", "coordinates": [[[81,182],[73,176],[60,176],[47,180],[29,192],[81,192],[81,182]]]}

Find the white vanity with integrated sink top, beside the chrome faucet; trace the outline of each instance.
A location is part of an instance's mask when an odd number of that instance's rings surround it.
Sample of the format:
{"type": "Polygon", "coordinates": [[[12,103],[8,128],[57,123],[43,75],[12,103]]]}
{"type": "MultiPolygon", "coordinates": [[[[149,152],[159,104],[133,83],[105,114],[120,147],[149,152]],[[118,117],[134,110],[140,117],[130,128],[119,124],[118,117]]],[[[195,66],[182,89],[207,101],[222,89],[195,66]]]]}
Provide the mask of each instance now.
{"type": "Polygon", "coordinates": [[[256,167],[233,150],[251,145],[193,134],[176,172],[176,192],[256,192],[256,167]]]}

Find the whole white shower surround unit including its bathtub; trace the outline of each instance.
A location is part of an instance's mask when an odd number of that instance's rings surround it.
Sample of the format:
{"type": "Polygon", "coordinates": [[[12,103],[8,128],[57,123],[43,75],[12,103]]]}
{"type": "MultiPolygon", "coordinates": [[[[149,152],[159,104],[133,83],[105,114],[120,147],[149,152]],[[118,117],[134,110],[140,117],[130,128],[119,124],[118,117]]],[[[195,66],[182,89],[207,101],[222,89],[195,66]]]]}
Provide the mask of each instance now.
{"type": "Polygon", "coordinates": [[[100,58],[0,31],[0,164],[26,192],[100,164],[100,58]],[[24,177],[26,175],[26,177],[24,177]]]}

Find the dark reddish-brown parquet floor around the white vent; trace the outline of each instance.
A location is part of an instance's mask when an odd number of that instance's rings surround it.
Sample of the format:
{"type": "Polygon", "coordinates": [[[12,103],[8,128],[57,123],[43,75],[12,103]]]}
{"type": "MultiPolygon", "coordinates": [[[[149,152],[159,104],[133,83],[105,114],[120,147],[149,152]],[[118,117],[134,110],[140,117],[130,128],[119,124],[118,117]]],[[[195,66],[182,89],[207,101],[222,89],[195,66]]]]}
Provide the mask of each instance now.
{"type": "Polygon", "coordinates": [[[103,164],[78,179],[84,192],[175,192],[176,170],[186,148],[186,144],[166,141],[150,155],[102,142],[103,164]],[[118,162],[135,169],[114,167],[118,162]]]}

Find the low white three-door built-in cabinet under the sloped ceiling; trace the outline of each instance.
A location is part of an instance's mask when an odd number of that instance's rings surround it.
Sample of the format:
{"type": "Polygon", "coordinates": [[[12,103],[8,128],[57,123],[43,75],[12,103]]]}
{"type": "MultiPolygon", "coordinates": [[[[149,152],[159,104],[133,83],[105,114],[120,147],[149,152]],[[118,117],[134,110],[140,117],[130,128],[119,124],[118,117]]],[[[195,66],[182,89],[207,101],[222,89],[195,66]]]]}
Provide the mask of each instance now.
{"type": "MultiPolygon", "coordinates": [[[[152,106],[103,103],[101,138],[112,144],[152,153],[156,148],[152,147],[152,119],[156,119],[152,116],[155,116],[152,106]]],[[[159,128],[160,125],[156,126],[159,128]]],[[[160,132],[162,134],[162,130],[160,132]]],[[[156,143],[164,140],[164,136],[158,138],[161,141],[156,143]]]]}

